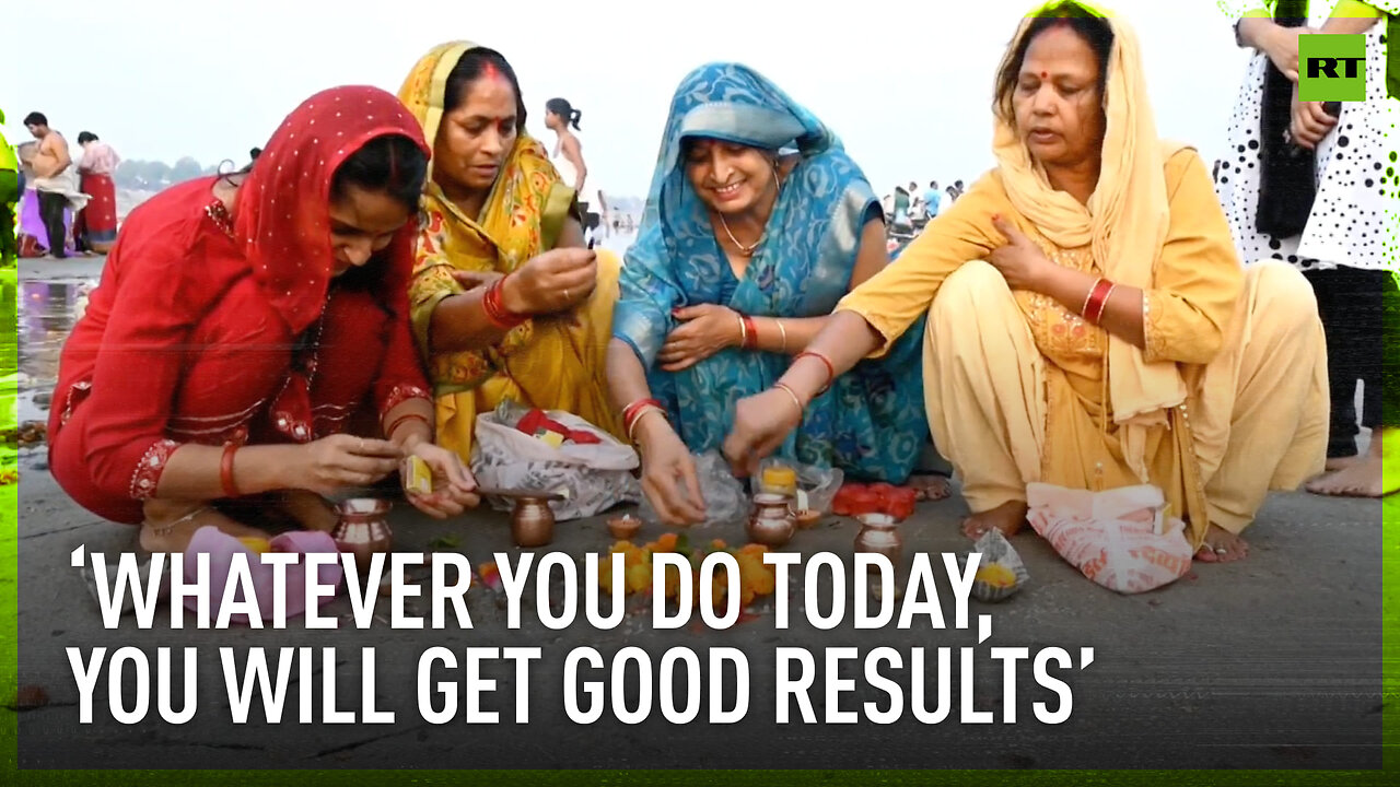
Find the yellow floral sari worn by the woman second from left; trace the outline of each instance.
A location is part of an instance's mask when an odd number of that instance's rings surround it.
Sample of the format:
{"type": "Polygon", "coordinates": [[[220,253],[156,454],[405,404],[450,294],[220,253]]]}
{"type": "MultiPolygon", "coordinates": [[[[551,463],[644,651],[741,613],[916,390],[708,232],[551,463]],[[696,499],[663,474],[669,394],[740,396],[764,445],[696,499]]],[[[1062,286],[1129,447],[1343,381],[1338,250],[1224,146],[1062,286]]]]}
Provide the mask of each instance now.
{"type": "MultiPolygon", "coordinates": [[[[447,76],[475,48],[461,41],[434,48],[399,90],[430,144],[442,120],[447,76]]],[[[529,319],[482,350],[434,353],[428,339],[437,305],[465,291],[454,270],[510,273],[525,265],[553,246],[573,200],[573,189],[560,181],[543,146],[524,129],[479,217],[463,214],[431,178],[424,189],[409,287],[413,335],[434,385],[438,443],[463,459],[472,454],[476,416],[504,399],[566,410],[617,437],[624,434],[603,374],[617,301],[615,255],[599,252],[598,287],[573,312],[529,319]]]]}

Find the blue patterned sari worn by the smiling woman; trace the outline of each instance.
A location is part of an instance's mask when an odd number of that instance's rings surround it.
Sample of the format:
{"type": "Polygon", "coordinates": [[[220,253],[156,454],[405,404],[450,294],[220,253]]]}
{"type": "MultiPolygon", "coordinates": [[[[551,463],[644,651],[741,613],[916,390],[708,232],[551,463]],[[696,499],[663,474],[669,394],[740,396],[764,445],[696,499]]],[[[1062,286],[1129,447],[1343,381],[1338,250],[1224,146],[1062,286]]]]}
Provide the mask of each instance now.
{"type": "MultiPolygon", "coordinates": [[[[861,231],[872,216],[879,216],[879,203],[860,167],[777,85],[734,63],[703,66],[680,83],[641,230],[623,265],[613,336],[636,350],[652,396],[669,409],[692,451],[718,448],[734,423],[735,402],[777,382],[791,358],[731,347],[687,370],[662,371],[657,354],[678,328],[671,311],[722,304],[753,316],[827,315],[850,286],[861,231]],[[795,147],[801,155],[742,279],[735,279],[686,178],[680,147],[692,136],[766,150],[795,147]]],[[[862,361],[837,379],[812,402],[780,455],[855,478],[903,482],[928,438],[921,337],[921,329],[906,330],[886,357],[862,361]]]]}

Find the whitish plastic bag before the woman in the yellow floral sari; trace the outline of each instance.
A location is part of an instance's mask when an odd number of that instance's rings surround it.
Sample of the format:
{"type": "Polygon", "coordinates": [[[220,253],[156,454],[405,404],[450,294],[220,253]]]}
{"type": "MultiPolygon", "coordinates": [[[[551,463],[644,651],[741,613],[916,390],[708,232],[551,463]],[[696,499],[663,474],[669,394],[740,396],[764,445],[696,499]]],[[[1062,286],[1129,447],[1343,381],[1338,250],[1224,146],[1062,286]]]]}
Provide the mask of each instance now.
{"type": "MultiPolygon", "coordinates": [[[[557,521],[594,517],[617,506],[641,500],[641,485],[631,476],[638,465],[637,452],[613,436],[561,410],[546,415],[570,430],[589,431],[598,444],[566,443],[554,447],[519,431],[512,424],[528,412],[514,402],[476,417],[472,443],[472,473],[484,487],[554,492],[566,490],[566,500],[549,504],[557,521]]],[[[515,501],[487,497],[497,511],[510,511],[515,501]]]]}

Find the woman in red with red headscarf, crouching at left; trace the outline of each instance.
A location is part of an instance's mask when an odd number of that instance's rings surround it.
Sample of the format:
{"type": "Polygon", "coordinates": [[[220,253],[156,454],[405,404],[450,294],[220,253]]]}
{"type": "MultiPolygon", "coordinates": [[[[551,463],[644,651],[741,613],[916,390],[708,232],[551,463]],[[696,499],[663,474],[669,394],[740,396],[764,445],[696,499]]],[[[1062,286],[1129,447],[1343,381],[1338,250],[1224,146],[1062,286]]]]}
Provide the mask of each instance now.
{"type": "Polygon", "coordinates": [[[409,333],[409,218],[428,153],[393,95],[335,88],[287,116],[246,176],[181,183],[132,211],[63,347],[59,485],[140,522],[153,552],[183,550],[204,525],[265,535],[248,517],[269,507],[328,529],[322,494],[409,455],[434,475],[414,506],[475,506],[470,475],[433,444],[409,333]]]}

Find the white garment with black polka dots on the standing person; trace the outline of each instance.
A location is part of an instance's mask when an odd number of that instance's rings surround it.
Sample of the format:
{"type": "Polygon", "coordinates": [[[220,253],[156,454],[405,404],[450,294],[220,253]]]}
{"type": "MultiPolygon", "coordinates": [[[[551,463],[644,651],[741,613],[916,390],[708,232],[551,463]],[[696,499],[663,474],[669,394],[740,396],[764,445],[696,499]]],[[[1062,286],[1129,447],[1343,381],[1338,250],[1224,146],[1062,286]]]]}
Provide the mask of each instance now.
{"type": "MultiPolygon", "coordinates": [[[[1313,3],[1309,27],[1327,20],[1330,4],[1313,3]]],[[[1275,238],[1254,230],[1259,204],[1260,104],[1268,57],[1254,55],[1245,73],[1229,123],[1229,147],[1215,176],[1215,192],[1229,218],[1245,265],[1281,259],[1303,270],[1338,265],[1387,267],[1394,259],[1397,192],[1394,129],[1397,102],[1386,98],[1385,21],[1366,34],[1366,101],[1343,102],[1336,130],[1317,147],[1317,197],[1301,235],[1275,238]]]]}

